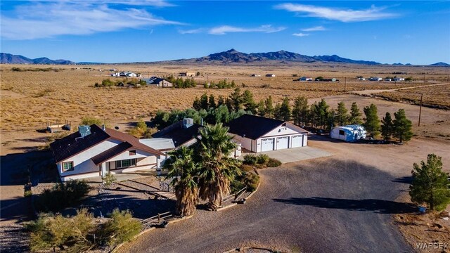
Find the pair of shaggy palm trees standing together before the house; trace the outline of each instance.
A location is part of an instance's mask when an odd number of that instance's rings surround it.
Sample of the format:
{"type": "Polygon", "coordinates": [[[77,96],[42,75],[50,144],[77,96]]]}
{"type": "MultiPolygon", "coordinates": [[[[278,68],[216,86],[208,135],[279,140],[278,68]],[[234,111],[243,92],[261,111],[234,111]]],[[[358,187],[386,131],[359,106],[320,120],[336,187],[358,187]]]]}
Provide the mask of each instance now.
{"type": "Polygon", "coordinates": [[[199,199],[207,200],[210,209],[221,206],[230,193],[230,183],[240,175],[240,161],[230,157],[236,143],[221,123],[199,130],[197,142],[191,147],[169,152],[163,165],[172,179],[176,195],[176,212],[189,216],[195,212],[199,199]]]}

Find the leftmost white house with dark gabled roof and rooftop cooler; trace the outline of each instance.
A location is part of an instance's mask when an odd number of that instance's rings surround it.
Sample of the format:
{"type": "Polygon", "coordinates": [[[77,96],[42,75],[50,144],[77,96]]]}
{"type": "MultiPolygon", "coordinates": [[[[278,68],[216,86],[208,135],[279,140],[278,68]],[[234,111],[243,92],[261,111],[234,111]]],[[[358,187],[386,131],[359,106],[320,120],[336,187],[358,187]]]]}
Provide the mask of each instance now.
{"type": "Polygon", "coordinates": [[[165,154],[120,131],[96,124],[50,144],[61,181],[157,169],[165,154]]]}

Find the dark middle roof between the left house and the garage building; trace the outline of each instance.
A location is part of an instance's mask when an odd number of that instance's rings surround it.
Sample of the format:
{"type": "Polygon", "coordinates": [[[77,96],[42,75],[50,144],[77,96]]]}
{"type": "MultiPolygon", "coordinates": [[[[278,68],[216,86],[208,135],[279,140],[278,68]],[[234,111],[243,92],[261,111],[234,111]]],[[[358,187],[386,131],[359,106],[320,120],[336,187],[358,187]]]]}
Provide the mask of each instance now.
{"type": "Polygon", "coordinates": [[[176,122],[170,126],[167,126],[165,129],[162,129],[158,133],[152,135],[153,138],[171,138],[174,141],[175,147],[179,147],[184,143],[191,141],[191,139],[198,136],[198,129],[200,129],[202,125],[193,124],[188,128],[184,129],[182,122],[176,122]]]}

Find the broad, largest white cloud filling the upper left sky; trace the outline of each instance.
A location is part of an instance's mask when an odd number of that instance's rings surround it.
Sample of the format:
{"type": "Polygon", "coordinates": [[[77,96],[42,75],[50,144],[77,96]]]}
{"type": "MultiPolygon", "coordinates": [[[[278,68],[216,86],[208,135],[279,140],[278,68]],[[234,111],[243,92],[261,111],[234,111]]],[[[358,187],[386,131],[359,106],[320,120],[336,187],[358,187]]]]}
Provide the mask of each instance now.
{"type": "MultiPolygon", "coordinates": [[[[137,4],[138,1],[132,2],[137,4]]],[[[144,1],[139,2],[142,4],[144,1]]],[[[181,23],[155,17],[137,8],[115,9],[108,4],[98,2],[93,4],[90,1],[44,1],[18,6],[13,11],[13,17],[11,13],[2,13],[1,37],[17,40],[41,39],[155,25],[181,25],[181,23]]]]}

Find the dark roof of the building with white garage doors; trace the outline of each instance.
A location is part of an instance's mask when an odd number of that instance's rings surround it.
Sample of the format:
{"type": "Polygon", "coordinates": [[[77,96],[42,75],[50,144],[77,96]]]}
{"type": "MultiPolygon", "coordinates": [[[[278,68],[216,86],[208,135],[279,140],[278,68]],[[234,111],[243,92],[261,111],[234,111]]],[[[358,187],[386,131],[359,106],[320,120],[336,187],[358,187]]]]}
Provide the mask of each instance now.
{"type": "Polygon", "coordinates": [[[294,124],[290,124],[289,122],[255,115],[242,115],[237,119],[233,119],[227,126],[230,128],[229,132],[231,134],[237,134],[238,136],[245,136],[246,138],[256,140],[282,124],[286,124],[300,133],[307,133],[306,130],[295,126],[294,124]]]}

